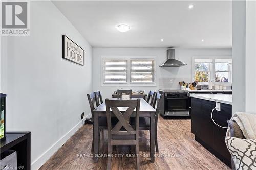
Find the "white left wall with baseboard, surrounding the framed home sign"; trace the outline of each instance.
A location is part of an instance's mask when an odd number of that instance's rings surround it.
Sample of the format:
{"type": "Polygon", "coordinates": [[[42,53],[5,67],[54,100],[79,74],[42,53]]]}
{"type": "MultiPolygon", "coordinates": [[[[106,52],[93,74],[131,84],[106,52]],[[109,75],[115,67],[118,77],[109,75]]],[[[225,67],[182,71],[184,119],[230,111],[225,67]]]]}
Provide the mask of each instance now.
{"type": "Polygon", "coordinates": [[[82,126],[80,114],[90,113],[92,47],[51,1],[31,1],[30,36],[1,42],[7,131],[31,131],[32,169],[37,169],[82,126]],[[84,49],[84,66],[62,59],[62,34],[84,49]]]}

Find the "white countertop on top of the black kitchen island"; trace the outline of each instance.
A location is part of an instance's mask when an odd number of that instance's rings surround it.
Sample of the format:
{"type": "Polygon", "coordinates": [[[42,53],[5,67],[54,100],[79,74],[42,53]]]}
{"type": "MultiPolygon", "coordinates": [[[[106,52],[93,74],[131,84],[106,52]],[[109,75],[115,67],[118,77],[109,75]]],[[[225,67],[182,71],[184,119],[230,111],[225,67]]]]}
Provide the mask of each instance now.
{"type": "Polygon", "coordinates": [[[193,94],[190,97],[232,105],[232,95],[230,94],[193,94]]]}

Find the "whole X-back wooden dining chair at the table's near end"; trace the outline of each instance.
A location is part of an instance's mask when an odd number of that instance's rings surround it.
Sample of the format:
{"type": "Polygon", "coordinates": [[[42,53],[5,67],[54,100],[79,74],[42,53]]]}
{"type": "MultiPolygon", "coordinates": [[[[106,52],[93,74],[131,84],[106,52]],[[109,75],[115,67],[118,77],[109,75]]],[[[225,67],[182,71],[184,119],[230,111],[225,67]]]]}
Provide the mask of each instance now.
{"type": "Polygon", "coordinates": [[[136,164],[139,169],[139,111],[140,99],[136,100],[105,100],[106,117],[108,119],[108,163],[107,169],[111,169],[112,145],[136,145],[136,164]],[[118,107],[127,107],[124,113],[121,113],[118,107]],[[111,111],[118,118],[115,126],[111,122],[111,111]],[[131,114],[135,111],[135,126],[129,124],[131,114]]]}

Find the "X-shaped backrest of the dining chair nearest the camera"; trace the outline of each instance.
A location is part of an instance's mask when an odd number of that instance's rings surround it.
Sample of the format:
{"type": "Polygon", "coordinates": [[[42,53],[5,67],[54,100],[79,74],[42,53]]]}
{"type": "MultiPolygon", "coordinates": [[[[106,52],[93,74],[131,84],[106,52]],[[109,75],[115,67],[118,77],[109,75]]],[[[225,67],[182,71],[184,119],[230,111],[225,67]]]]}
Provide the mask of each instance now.
{"type": "Polygon", "coordinates": [[[106,103],[106,117],[108,122],[108,134],[111,135],[138,135],[139,131],[139,110],[140,110],[140,99],[136,100],[105,100],[106,103]],[[127,107],[127,110],[124,113],[121,113],[118,107],[127,107]],[[112,128],[111,124],[111,111],[114,113],[114,115],[117,117],[118,122],[117,124],[112,128]],[[131,114],[134,112],[134,109],[136,109],[136,128],[134,129],[129,124],[129,119],[131,114]],[[124,127],[125,130],[121,130],[121,128],[124,127]]]}

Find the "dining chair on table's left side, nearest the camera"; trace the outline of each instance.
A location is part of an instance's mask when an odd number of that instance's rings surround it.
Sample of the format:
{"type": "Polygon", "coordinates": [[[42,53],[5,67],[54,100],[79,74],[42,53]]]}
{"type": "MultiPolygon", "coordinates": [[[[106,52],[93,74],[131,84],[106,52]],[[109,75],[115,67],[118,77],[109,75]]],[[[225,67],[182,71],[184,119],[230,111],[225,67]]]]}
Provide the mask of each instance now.
{"type": "MultiPolygon", "coordinates": [[[[88,98],[90,109],[91,109],[91,114],[92,114],[92,119],[93,119],[93,127],[94,127],[94,113],[93,113],[93,110],[95,109],[95,104],[96,104],[96,106],[99,106],[99,102],[96,98],[96,92],[87,94],[87,98],[88,98]]],[[[113,124],[116,124],[117,119],[115,117],[113,117],[112,121],[113,121],[113,124]]],[[[100,131],[104,130],[104,129],[108,129],[106,117],[99,117],[99,135],[100,135],[100,131]]],[[[92,143],[91,151],[93,151],[93,148],[94,148],[94,128],[93,128],[93,143],[92,143]]]]}

